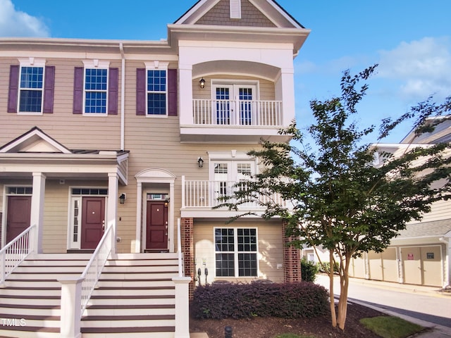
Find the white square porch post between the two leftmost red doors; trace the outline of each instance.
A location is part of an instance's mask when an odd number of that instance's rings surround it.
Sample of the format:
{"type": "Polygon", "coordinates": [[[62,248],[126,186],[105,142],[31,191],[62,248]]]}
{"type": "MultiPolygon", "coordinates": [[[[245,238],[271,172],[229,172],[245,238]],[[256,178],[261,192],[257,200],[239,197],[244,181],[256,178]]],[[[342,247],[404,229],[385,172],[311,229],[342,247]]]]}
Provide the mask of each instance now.
{"type": "Polygon", "coordinates": [[[45,180],[43,173],[33,173],[33,194],[31,197],[30,225],[36,225],[35,238],[32,249],[35,253],[42,253],[42,232],[44,227],[44,196],[45,180]]]}

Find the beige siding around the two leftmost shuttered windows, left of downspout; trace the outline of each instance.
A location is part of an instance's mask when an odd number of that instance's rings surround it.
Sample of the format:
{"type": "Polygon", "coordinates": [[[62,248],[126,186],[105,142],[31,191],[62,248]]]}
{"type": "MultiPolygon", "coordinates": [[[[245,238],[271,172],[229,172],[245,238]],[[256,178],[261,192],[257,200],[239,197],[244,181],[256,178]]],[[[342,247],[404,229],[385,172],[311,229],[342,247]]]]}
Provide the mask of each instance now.
{"type": "MultiPolygon", "coordinates": [[[[8,101],[8,80],[0,83],[0,144],[6,144],[39,127],[49,136],[69,149],[119,149],[120,115],[106,117],[73,114],[73,74],[75,67],[82,67],[80,60],[49,59],[47,65],[55,66],[54,113],[42,115],[18,115],[6,113],[8,101]]],[[[9,79],[11,64],[17,59],[0,58],[0,76],[9,79]]],[[[110,67],[120,67],[121,63],[111,62],[110,67]]],[[[119,72],[121,83],[121,72],[119,72]]],[[[121,106],[121,98],[118,105],[121,106]]]]}

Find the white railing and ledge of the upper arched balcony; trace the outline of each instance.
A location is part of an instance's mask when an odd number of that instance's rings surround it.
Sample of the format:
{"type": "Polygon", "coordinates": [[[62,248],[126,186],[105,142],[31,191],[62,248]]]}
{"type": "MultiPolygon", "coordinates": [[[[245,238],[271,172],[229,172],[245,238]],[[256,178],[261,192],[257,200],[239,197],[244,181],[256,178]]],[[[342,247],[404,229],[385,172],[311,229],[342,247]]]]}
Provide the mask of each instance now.
{"type": "Polygon", "coordinates": [[[285,124],[282,101],[193,99],[192,119],[180,133],[182,141],[258,142],[280,138],[285,124]]]}

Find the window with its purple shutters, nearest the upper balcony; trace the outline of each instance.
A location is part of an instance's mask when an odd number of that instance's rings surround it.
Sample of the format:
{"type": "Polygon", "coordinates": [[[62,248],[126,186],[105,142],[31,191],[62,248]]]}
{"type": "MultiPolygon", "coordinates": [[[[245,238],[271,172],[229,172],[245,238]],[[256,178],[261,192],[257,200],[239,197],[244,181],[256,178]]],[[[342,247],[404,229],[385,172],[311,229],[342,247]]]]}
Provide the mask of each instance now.
{"type": "Polygon", "coordinates": [[[136,70],[136,115],[177,116],[177,70],[168,62],[146,62],[136,70]]]}

